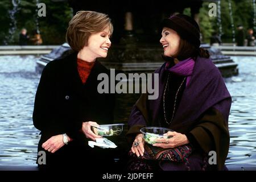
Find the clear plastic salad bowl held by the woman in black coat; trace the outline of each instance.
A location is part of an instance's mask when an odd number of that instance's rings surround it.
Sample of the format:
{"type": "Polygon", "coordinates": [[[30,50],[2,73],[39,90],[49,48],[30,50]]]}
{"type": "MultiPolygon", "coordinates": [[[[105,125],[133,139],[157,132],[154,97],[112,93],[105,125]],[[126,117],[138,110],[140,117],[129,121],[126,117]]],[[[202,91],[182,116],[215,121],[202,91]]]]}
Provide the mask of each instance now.
{"type": "Polygon", "coordinates": [[[119,124],[100,125],[100,126],[92,125],[92,131],[96,135],[100,135],[102,137],[117,136],[122,133],[123,125],[125,125],[125,124],[119,123],[119,124]]]}

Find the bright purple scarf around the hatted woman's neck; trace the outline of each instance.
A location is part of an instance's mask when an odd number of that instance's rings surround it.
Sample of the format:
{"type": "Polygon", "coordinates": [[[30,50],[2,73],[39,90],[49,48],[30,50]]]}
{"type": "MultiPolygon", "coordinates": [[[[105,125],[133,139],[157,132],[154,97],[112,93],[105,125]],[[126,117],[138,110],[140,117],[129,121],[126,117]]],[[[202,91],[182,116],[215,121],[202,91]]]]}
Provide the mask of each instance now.
{"type": "Polygon", "coordinates": [[[169,72],[175,73],[180,76],[187,76],[186,86],[188,86],[189,81],[191,80],[191,76],[193,73],[193,69],[195,67],[195,60],[191,57],[185,59],[183,61],[179,61],[179,63],[175,64],[173,67],[170,67],[170,62],[166,63],[166,69],[169,72]]]}

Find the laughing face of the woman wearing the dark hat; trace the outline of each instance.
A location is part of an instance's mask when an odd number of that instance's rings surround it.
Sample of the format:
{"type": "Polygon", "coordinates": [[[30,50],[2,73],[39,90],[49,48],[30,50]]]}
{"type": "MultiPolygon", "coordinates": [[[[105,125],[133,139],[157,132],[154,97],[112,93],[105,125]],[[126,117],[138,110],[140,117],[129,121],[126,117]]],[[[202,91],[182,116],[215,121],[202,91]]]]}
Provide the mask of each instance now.
{"type": "Polygon", "coordinates": [[[177,57],[180,46],[180,36],[176,31],[164,27],[160,43],[164,49],[164,56],[177,57]]]}

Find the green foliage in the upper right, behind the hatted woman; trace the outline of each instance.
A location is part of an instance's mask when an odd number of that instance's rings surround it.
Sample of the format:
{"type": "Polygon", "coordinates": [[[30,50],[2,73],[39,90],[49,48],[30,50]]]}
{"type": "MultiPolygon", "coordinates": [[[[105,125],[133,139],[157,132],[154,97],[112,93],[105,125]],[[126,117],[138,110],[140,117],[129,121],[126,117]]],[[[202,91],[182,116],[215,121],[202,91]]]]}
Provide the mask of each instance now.
{"type": "MultiPolygon", "coordinates": [[[[203,7],[200,9],[200,28],[205,42],[209,42],[209,38],[213,32],[218,32],[217,17],[209,17],[210,2],[204,2],[203,7]]],[[[232,20],[230,17],[229,1],[221,0],[221,26],[222,26],[222,42],[232,43],[233,36],[236,35],[237,26],[242,25],[245,32],[248,28],[253,28],[253,0],[232,0],[232,20]],[[233,35],[232,28],[235,34],[233,35]]]]}

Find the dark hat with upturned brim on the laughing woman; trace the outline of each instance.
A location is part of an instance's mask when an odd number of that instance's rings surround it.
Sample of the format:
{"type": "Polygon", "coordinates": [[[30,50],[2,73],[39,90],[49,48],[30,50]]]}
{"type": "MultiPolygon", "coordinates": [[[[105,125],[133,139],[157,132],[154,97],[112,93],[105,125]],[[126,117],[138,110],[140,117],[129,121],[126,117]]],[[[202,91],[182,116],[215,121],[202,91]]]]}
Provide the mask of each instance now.
{"type": "Polygon", "coordinates": [[[171,28],[196,48],[200,47],[200,28],[190,16],[184,14],[172,15],[170,18],[163,19],[160,28],[163,29],[163,27],[171,28]]]}

